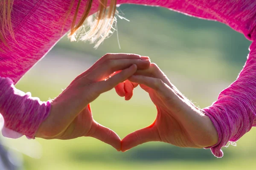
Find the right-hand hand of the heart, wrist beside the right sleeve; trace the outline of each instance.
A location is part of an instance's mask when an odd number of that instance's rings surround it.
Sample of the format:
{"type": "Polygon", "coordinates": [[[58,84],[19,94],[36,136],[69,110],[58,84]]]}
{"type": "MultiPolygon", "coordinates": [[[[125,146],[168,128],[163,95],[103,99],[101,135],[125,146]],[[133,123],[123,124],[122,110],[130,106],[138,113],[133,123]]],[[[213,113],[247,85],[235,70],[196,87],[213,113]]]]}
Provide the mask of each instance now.
{"type": "Polygon", "coordinates": [[[204,115],[172,85],[166,75],[151,63],[129,78],[148,92],[157,108],[154,122],[122,139],[122,151],[150,141],[179,147],[202,148],[216,144],[218,134],[209,117],[204,115]]]}

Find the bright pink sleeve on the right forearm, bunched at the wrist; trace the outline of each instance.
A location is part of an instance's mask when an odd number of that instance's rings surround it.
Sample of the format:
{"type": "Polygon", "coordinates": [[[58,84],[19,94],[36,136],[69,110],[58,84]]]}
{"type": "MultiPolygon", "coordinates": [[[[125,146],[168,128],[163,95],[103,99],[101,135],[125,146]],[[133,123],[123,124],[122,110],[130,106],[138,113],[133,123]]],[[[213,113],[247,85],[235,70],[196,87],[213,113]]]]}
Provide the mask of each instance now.
{"type": "Polygon", "coordinates": [[[221,91],[218,100],[202,110],[218,131],[218,143],[210,148],[216,157],[222,157],[221,147],[238,141],[256,126],[256,42],[238,78],[221,91]]]}

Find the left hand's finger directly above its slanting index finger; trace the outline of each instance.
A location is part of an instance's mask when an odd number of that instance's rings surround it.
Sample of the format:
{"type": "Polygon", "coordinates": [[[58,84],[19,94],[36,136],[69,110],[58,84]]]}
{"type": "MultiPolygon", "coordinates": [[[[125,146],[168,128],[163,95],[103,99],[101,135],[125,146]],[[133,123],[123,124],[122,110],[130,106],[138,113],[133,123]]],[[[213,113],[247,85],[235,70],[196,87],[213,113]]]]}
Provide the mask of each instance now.
{"type": "Polygon", "coordinates": [[[149,60],[141,59],[115,59],[106,60],[98,68],[94,69],[86,76],[86,79],[91,79],[94,81],[102,81],[113,74],[114,71],[120,71],[125,68],[130,67],[132,64],[137,65],[138,69],[146,69],[150,65],[149,60]]]}

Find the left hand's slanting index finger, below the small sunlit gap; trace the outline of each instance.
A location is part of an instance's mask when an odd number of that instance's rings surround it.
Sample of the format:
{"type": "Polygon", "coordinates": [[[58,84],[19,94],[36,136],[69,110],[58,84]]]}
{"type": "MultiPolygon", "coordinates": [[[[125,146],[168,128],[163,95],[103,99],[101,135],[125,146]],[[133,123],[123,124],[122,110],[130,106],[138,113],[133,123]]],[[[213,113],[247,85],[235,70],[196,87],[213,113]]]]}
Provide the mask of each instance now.
{"type": "Polygon", "coordinates": [[[120,82],[124,82],[126,79],[128,79],[128,77],[131,77],[131,75],[133,75],[136,72],[136,70],[137,66],[133,64],[129,68],[126,68],[125,70],[107,79],[106,81],[97,82],[94,86],[95,91],[99,94],[102,94],[106,91],[111,90],[120,82]]]}

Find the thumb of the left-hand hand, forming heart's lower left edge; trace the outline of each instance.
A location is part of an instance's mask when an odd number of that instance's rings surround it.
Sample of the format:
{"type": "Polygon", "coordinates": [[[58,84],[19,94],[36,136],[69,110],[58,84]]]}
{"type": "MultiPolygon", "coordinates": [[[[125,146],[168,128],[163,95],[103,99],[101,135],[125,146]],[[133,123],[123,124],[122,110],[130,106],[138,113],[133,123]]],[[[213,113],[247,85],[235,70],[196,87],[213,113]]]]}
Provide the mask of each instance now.
{"type": "Polygon", "coordinates": [[[102,126],[97,122],[93,122],[90,131],[87,136],[99,139],[102,142],[110,144],[117,151],[121,150],[121,139],[120,137],[108,127],[102,126]]]}

